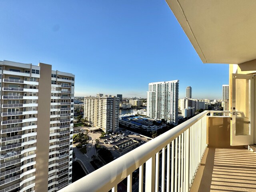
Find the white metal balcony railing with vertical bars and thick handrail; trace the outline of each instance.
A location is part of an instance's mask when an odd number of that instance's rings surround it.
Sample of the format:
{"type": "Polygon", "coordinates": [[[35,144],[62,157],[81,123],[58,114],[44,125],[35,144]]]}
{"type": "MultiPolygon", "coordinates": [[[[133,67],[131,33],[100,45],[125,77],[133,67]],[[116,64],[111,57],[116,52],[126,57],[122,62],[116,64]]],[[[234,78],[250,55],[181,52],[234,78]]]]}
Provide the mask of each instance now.
{"type": "Polygon", "coordinates": [[[131,192],[132,173],[137,169],[139,192],[158,192],[160,186],[162,192],[188,192],[207,147],[206,116],[217,112],[226,111],[204,111],[59,192],[117,192],[125,178],[131,192]]]}

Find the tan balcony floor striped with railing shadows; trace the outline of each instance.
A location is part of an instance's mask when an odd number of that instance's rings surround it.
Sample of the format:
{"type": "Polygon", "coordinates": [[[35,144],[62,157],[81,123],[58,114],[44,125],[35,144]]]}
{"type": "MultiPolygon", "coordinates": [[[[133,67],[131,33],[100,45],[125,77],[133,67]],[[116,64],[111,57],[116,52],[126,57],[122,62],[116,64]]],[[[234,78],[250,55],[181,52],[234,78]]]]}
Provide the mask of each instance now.
{"type": "Polygon", "coordinates": [[[256,153],[207,148],[190,192],[256,192],[256,153]]]}

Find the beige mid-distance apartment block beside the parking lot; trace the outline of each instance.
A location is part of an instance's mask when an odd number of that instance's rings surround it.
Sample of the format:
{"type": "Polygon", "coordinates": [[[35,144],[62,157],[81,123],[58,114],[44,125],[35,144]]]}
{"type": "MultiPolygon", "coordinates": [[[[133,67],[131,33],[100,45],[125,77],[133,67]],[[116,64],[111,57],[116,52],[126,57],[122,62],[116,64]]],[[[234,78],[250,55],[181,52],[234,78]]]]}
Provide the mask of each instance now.
{"type": "Polygon", "coordinates": [[[104,132],[118,128],[119,98],[116,96],[84,97],[84,118],[104,132]]]}

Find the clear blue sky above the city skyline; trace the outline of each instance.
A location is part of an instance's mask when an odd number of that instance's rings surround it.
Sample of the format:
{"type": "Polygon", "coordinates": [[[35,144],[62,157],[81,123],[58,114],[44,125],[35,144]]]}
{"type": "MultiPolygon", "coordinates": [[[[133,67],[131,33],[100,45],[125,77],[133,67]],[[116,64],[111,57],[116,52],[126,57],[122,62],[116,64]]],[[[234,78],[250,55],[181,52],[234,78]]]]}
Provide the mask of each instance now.
{"type": "Polygon", "coordinates": [[[75,96],[146,98],[180,80],[179,98],[221,98],[227,64],[203,64],[164,0],[1,0],[0,60],[75,74],[75,96]]]}

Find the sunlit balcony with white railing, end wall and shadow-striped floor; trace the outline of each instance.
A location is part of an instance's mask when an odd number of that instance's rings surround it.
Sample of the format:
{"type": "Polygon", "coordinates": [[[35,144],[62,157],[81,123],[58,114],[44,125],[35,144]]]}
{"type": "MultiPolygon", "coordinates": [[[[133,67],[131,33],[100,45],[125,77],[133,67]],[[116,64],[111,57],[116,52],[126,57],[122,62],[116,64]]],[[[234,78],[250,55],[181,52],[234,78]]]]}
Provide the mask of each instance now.
{"type": "Polygon", "coordinates": [[[256,154],[241,146],[230,146],[230,117],[212,116],[215,112],[219,111],[204,111],[194,116],[60,192],[71,189],[116,192],[117,185],[126,178],[130,192],[134,190],[132,173],[136,170],[141,192],[158,192],[159,188],[203,192],[223,190],[226,186],[231,191],[242,191],[240,184],[251,188],[245,180],[246,176],[256,179],[256,154]]]}

